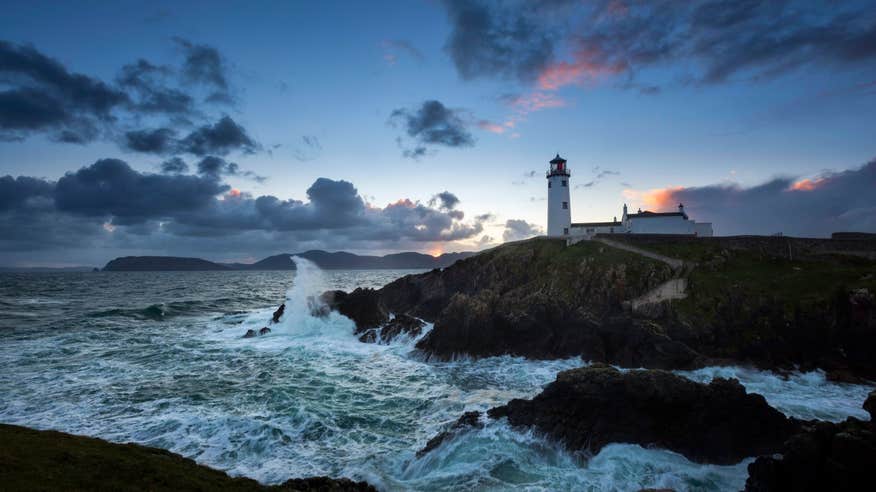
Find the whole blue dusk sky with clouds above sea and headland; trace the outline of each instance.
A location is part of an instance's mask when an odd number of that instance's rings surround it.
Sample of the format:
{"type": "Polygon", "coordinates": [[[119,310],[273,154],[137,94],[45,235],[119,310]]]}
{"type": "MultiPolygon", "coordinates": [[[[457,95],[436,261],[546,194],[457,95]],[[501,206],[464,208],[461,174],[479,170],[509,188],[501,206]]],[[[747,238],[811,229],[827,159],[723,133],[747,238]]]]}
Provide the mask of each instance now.
{"type": "Polygon", "coordinates": [[[876,232],[869,1],[5,2],[0,266],[876,232]]]}

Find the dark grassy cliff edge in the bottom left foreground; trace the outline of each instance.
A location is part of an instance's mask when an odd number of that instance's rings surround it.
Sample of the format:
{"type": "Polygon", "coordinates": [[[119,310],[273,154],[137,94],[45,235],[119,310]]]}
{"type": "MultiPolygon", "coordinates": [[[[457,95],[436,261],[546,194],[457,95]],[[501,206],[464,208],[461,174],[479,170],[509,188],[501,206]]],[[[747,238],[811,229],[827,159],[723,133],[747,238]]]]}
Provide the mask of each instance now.
{"type": "Polygon", "coordinates": [[[375,491],[345,478],[292,479],[265,486],[162,449],[0,424],[3,490],[375,491]]]}

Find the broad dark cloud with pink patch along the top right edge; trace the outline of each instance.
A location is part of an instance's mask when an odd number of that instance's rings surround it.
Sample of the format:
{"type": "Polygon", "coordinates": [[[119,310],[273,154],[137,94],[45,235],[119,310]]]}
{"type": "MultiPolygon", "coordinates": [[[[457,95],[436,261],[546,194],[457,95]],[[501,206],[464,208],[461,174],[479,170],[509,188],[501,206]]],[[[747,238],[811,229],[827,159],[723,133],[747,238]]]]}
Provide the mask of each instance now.
{"type": "Polygon", "coordinates": [[[443,3],[453,26],[447,49],[463,79],[517,77],[556,89],[622,74],[620,87],[653,94],[659,85],[639,80],[652,67],[720,83],[876,59],[876,14],[865,0],[443,3]]]}

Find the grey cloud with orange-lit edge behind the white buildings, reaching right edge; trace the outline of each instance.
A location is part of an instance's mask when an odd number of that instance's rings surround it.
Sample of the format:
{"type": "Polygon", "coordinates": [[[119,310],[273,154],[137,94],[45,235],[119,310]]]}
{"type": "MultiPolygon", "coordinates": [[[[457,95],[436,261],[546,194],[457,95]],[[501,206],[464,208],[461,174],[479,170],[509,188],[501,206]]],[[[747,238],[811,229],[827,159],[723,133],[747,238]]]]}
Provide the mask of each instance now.
{"type": "Polygon", "coordinates": [[[695,220],[712,221],[716,233],[829,236],[836,231],[876,232],[876,160],[857,169],[814,178],[775,178],[742,187],[721,184],[673,187],[627,197],[653,210],[683,203],[695,220]]]}

